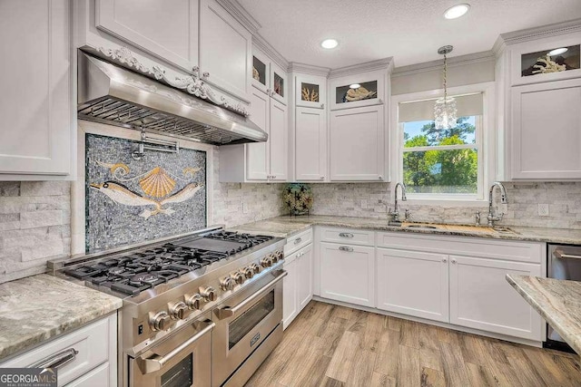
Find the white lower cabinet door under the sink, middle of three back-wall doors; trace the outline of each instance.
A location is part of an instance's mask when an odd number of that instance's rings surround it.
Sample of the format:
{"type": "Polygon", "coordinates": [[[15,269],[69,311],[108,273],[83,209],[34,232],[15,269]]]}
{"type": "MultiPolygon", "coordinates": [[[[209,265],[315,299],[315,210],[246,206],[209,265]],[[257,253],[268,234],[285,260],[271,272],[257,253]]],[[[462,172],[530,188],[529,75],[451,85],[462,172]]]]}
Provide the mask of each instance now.
{"type": "Polygon", "coordinates": [[[378,309],[448,322],[448,256],[378,248],[377,265],[378,309]]]}

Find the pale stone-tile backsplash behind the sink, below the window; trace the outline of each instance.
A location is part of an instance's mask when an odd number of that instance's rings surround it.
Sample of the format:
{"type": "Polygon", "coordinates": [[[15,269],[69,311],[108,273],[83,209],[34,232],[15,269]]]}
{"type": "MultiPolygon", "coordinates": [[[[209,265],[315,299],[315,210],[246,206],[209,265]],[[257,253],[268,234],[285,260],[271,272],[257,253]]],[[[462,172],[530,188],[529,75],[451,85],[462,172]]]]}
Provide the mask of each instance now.
{"type": "MultiPolygon", "coordinates": [[[[505,183],[508,210],[498,224],[521,227],[581,229],[581,182],[505,183]],[[538,204],[549,205],[549,216],[538,216],[538,204]]],[[[312,214],[386,218],[386,200],[393,208],[393,185],[388,183],[313,184],[312,214]]],[[[429,206],[399,202],[419,222],[472,224],[475,212],[486,223],[487,203],[481,206],[429,206]]],[[[404,209],[400,211],[403,214],[404,209]]]]}

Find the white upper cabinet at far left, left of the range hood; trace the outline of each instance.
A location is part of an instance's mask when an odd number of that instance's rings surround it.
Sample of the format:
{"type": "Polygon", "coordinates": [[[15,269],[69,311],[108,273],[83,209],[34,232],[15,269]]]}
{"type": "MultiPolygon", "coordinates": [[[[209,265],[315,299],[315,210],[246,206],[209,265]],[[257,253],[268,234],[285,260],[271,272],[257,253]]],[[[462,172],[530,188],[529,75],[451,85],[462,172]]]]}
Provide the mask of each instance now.
{"type": "Polygon", "coordinates": [[[74,176],[69,0],[0,3],[0,180],[74,176]]]}

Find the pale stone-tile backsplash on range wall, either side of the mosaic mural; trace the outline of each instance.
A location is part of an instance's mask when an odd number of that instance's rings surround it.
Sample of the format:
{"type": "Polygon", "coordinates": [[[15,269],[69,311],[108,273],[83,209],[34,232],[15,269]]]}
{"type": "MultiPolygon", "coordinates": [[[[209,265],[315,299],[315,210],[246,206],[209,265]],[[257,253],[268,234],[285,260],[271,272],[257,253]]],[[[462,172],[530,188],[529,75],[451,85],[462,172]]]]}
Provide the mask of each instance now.
{"type": "MultiPolygon", "coordinates": [[[[213,151],[213,224],[233,227],[284,213],[283,184],[224,184],[213,151]]],[[[71,254],[71,183],[0,181],[0,283],[44,273],[71,254]]]]}

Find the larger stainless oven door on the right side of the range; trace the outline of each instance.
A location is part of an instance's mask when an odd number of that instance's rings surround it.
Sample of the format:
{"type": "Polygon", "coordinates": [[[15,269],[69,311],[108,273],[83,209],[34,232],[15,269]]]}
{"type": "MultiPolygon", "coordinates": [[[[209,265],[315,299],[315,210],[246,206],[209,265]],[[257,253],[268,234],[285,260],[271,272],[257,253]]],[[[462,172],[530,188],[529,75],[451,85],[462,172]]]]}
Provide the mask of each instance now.
{"type": "Polygon", "coordinates": [[[267,276],[226,300],[214,311],[212,385],[218,386],[253,353],[282,321],[284,270],[267,276]]]}

